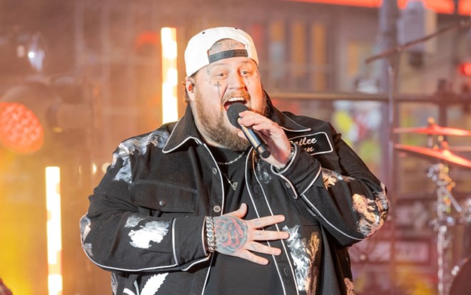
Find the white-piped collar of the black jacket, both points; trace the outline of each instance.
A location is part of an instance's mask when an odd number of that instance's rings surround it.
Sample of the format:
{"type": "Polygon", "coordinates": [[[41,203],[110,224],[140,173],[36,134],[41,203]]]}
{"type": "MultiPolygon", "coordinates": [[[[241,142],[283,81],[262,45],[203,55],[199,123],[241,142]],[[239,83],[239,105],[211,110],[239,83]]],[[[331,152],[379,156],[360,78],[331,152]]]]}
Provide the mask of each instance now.
{"type": "MultiPolygon", "coordinates": [[[[285,113],[280,112],[280,110],[277,110],[272,105],[268,95],[267,98],[270,108],[270,111],[268,112],[268,118],[270,118],[270,120],[278,123],[278,125],[280,125],[280,127],[284,130],[294,133],[308,132],[311,130],[310,128],[295,122],[295,120],[285,115],[285,113]]],[[[178,120],[178,122],[175,124],[175,127],[171,131],[171,135],[168,138],[166,145],[163,147],[162,152],[168,153],[172,152],[173,150],[177,150],[188,141],[194,141],[198,145],[203,144],[203,140],[201,139],[201,135],[196,128],[195,119],[193,118],[193,113],[189,104],[186,106],[185,115],[183,115],[183,117],[178,120]]]]}

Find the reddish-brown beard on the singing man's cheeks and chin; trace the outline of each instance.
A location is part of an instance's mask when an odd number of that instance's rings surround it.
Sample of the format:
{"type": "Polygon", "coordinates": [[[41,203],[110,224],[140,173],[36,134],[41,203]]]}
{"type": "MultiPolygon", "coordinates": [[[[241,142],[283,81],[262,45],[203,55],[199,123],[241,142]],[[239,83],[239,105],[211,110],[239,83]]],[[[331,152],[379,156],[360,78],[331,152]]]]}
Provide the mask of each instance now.
{"type": "MultiPolygon", "coordinates": [[[[203,128],[206,136],[215,143],[222,145],[229,150],[243,151],[248,148],[250,143],[245,138],[240,138],[237,133],[234,133],[233,128],[226,125],[224,120],[224,113],[214,112],[205,108],[205,101],[201,93],[195,93],[195,117],[198,120],[199,128],[203,128]]],[[[261,114],[266,115],[268,111],[268,103],[265,92],[263,93],[263,102],[261,114]]]]}

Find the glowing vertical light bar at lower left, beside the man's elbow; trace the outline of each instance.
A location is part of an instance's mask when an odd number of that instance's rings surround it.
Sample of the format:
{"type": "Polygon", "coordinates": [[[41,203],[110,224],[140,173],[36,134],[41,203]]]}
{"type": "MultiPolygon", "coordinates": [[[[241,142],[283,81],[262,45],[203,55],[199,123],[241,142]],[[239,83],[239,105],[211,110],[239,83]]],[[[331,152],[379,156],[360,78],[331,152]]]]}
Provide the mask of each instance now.
{"type": "Polygon", "coordinates": [[[46,167],[49,295],[62,294],[61,168],[46,167]]]}

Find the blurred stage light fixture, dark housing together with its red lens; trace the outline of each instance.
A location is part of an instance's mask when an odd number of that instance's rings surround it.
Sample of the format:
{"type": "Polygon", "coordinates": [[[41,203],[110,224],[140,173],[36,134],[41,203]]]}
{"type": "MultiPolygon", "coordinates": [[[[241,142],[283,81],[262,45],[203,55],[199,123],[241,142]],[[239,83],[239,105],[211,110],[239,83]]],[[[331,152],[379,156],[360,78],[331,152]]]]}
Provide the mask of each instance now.
{"type": "Polygon", "coordinates": [[[49,150],[59,147],[68,134],[90,133],[91,92],[91,86],[74,77],[10,88],[0,99],[0,145],[19,154],[32,154],[46,146],[49,150]]]}

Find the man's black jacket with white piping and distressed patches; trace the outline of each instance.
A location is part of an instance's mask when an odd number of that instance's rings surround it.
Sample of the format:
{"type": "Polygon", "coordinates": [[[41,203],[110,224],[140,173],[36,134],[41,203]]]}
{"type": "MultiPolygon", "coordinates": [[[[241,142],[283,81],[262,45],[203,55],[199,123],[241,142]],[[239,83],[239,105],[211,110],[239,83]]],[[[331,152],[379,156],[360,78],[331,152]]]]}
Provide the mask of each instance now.
{"type": "MultiPolygon", "coordinates": [[[[245,180],[260,217],[285,215],[272,230],[290,239],[270,242],[283,250],[274,259],[284,293],[353,294],[348,246],[385,222],[385,187],[329,123],[274,108],[270,118],[294,143],[293,160],[277,172],[250,150],[245,180]]],[[[203,294],[212,257],[203,219],[223,214],[223,181],[189,106],[118,146],[81,219],[83,249],[112,271],[115,294],[203,294]]]]}

